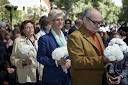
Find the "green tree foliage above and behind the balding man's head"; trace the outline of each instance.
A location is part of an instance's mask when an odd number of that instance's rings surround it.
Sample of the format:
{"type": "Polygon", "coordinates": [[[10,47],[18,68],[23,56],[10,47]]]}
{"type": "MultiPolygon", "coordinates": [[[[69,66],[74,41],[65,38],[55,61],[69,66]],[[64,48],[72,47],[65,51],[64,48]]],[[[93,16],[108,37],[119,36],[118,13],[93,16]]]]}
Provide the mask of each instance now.
{"type": "Polygon", "coordinates": [[[68,12],[73,20],[86,8],[95,7],[101,11],[106,22],[116,23],[121,10],[112,0],[54,0],[54,4],[68,12]]]}

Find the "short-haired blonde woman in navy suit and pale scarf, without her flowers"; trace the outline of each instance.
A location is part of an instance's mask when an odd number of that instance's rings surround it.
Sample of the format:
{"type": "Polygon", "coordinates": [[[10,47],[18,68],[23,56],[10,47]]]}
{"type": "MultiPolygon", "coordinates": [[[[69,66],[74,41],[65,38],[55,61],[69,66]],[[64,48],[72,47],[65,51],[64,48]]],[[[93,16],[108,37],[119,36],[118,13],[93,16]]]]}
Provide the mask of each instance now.
{"type": "Polygon", "coordinates": [[[51,30],[39,38],[37,60],[44,65],[43,85],[70,85],[69,72],[65,73],[61,65],[70,68],[70,60],[61,59],[55,63],[52,52],[59,47],[67,46],[66,39],[61,31],[64,23],[64,14],[60,9],[52,9],[48,15],[51,30]],[[58,66],[56,65],[58,64],[58,66]]]}

